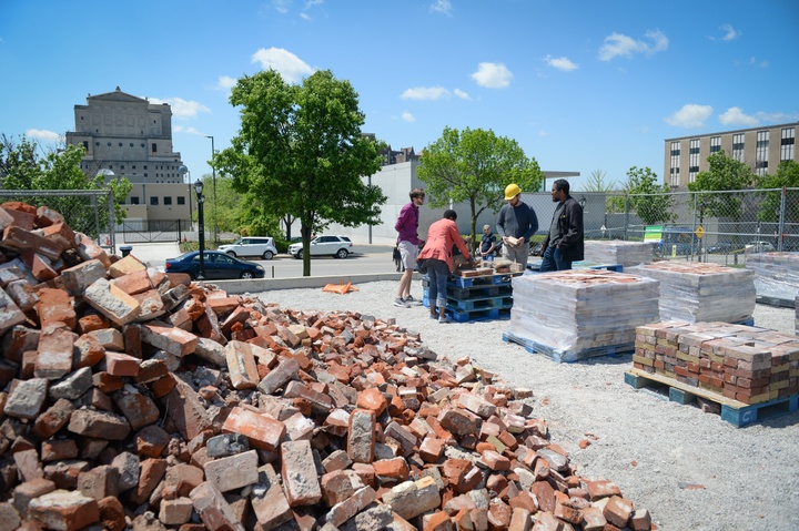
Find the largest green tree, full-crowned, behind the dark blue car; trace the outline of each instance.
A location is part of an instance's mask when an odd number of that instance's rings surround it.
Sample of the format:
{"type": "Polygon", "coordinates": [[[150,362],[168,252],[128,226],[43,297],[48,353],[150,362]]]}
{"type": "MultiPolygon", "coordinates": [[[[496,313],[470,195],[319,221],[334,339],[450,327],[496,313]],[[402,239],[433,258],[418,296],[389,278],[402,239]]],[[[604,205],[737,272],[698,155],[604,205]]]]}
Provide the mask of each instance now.
{"type": "MultiPolygon", "coordinates": [[[[216,167],[264,212],[300,219],[304,249],[331,223],[380,223],[386,197],[362,178],[380,170],[378,146],[361,132],[364,114],[348,81],[324,70],[290,84],[269,70],[240,79],[230,102],[240,108],[241,130],[216,167]]],[[[304,276],[310,258],[303,253],[304,276]]]]}

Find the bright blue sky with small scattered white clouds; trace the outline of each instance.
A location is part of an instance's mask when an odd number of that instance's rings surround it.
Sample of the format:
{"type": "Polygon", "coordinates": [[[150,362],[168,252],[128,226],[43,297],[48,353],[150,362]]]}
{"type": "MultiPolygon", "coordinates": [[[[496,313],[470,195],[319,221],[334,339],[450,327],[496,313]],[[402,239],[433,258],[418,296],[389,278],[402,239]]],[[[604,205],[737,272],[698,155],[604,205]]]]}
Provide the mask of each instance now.
{"type": "Polygon", "coordinates": [[[797,0],[0,0],[0,133],[55,145],[120,86],[172,105],[196,177],[205,136],[239,131],[237,78],[322,69],[394,149],[490,129],[543,170],[624,183],[663,178],[666,139],[799,121],[798,59],[797,0]]]}

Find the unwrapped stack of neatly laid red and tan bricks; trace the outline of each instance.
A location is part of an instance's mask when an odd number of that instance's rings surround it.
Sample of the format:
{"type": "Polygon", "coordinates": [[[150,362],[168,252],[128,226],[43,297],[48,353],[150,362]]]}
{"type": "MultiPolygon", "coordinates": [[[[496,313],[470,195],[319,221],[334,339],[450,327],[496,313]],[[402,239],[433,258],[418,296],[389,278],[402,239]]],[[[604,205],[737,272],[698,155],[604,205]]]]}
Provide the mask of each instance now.
{"type": "Polygon", "coordinates": [[[761,404],[799,394],[799,337],[729,323],[636,328],[635,368],[761,404]]]}

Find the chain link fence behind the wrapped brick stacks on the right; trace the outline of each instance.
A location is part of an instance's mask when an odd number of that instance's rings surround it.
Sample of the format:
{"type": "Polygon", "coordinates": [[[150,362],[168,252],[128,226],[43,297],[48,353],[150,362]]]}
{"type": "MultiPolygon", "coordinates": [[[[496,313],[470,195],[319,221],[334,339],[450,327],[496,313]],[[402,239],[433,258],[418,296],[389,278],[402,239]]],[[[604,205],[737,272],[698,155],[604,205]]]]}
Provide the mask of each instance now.
{"type": "Polygon", "coordinates": [[[799,251],[799,188],[573,195],[586,238],[650,241],[665,259],[746,264],[751,253],[799,251]]]}

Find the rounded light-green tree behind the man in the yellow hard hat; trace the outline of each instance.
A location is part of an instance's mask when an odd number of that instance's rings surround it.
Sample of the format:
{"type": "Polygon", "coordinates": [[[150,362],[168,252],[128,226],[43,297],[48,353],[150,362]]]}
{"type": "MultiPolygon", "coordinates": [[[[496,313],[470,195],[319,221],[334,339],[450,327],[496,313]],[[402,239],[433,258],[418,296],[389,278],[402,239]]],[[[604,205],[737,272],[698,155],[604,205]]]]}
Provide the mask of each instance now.
{"type": "Polygon", "coordinates": [[[539,190],[544,173],[514,140],[490,130],[444,127],[441,139],[424,149],[418,177],[427,185],[431,206],[468,202],[472,242],[477,242],[477,217],[502,207],[505,186],[516,183],[522,190],[539,190]]]}

